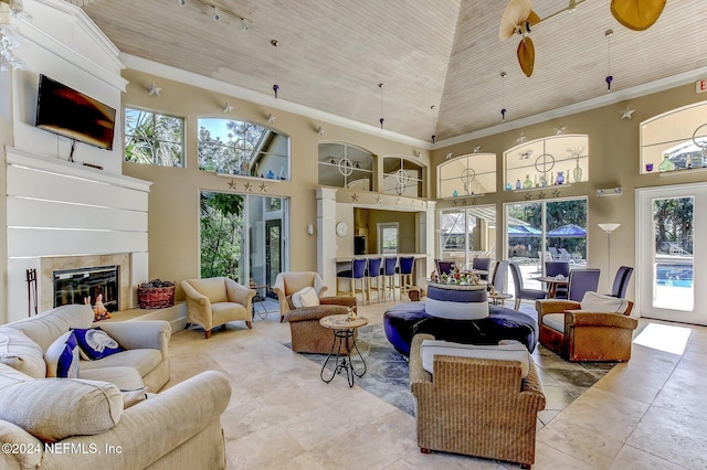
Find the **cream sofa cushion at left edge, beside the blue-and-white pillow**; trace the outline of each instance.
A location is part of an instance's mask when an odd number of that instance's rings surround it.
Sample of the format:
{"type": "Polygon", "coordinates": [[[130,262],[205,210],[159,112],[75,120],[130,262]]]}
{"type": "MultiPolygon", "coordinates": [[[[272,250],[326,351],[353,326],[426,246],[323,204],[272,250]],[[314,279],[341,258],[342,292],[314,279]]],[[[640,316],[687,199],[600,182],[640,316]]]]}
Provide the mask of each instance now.
{"type": "Polygon", "coordinates": [[[46,376],[42,348],[27,334],[13,328],[0,329],[0,363],[34,378],[46,376]]]}

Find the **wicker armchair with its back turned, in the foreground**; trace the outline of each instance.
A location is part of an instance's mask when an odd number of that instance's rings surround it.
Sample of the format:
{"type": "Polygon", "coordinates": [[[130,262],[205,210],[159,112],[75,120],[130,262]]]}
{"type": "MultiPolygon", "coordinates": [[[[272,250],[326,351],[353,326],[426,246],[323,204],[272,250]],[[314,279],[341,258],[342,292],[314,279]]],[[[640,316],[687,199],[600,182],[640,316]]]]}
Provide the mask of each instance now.
{"type": "Polygon", "coordinates": [[[487,459],[535,462],[537,414],[545,408],[532,360],[526,378],[520,363],[435,356],[434,377],[422,368],[416,334],[410,351],[410,388],[416,398],[418,445],[487,459]]]}

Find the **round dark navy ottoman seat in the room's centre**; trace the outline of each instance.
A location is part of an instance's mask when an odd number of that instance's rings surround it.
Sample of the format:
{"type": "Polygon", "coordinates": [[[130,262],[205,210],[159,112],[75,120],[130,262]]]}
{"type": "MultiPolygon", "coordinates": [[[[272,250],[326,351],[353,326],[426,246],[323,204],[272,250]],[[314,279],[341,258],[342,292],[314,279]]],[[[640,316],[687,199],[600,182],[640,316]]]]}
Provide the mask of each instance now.
{"type": "Polygon", "coordinates": [[[412,337],[429,333],[437,340],[468,344],[498,344],[502,340],[516,340],[532,352],[538,342],[538,321],[531,313],[488,307],[488,317],[477,320],[454,320],[432,317],[425,302],[393,306],[383,314],[388,341],[408,356],[412,337]]]}

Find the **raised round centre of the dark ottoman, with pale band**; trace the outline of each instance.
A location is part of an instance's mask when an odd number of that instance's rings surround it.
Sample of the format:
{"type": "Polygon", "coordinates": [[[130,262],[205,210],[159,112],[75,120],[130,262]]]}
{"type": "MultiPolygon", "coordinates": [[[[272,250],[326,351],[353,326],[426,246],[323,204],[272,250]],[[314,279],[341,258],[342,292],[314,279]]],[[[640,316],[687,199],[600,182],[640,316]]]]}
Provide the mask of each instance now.
{"type": "Polygon", "coordinates": [[[488,317],[486,289],[441,289],[430,286],[425,311],[450,320],[478,320],[488,317]]]}

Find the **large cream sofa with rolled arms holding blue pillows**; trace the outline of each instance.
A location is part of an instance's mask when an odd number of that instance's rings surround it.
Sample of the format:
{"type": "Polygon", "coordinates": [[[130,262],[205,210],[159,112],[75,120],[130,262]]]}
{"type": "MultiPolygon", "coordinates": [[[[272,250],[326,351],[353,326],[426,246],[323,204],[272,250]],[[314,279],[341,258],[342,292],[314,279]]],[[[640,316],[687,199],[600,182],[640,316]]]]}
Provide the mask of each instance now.
{"type": "Polygon", "coordinates": [[[52,338],[92,319],[89,307],[67,306],[0,327],[0,469],[223,469],[223,374],[203,372],[126,409],[110,383],[135,367],[151,391],[163,386],[167,322],[99,323],[127,350],[81,361],[80,377],[103,380],[44,377],[52,338]]]}

